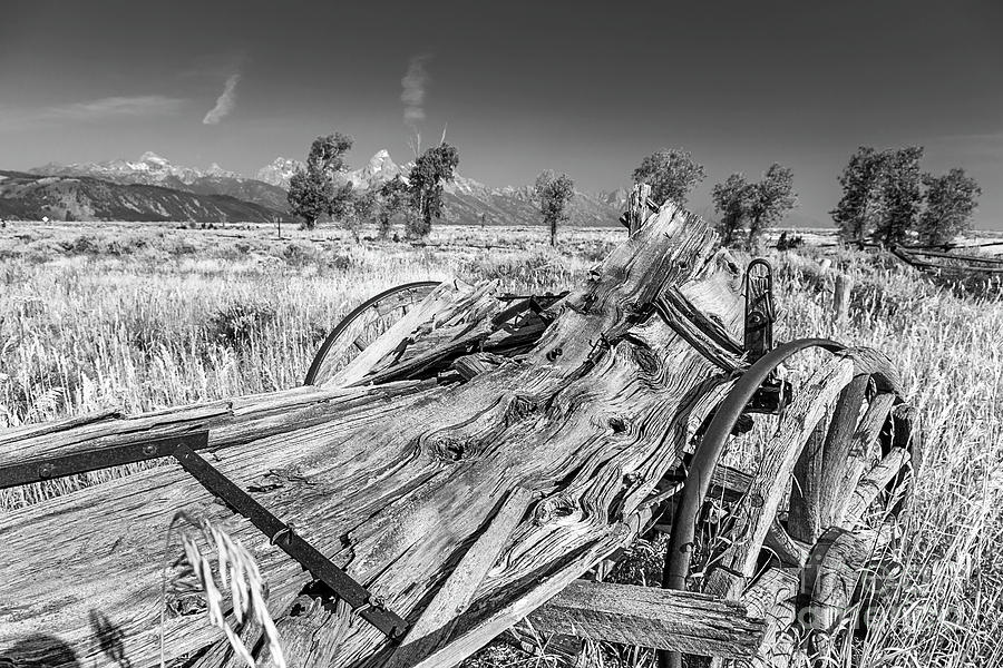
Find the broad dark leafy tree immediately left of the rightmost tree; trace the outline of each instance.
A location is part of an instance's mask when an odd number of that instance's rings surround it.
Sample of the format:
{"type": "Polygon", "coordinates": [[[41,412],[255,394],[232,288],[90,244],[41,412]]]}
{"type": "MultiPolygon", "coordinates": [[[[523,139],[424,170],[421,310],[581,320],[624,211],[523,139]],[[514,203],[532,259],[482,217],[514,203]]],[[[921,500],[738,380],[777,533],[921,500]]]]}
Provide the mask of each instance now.
{"type": "Polygon", "coordinates": [[[831,212],[840,236],[858,242],[865,237],[886,244],[904,242],[922,208],[922,157],[918,146],[882,151],[858,148],[839,177],[843,198],[831,212]]]}

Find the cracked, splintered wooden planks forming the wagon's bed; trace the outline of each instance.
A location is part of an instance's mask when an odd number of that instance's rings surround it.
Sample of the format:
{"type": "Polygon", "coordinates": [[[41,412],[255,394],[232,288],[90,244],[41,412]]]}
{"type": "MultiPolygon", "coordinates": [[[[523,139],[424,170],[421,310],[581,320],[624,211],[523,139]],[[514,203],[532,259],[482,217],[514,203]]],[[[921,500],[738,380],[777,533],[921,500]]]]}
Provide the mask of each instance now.
{"type": "MultiPolygon", "coordinates": [[[[0,433],[3,465],[206,429],[214,466],[419,623],[403,647],[390,641],[166,464],[0,515],[0,656],[140,668],[159,662],[163,632],[168,661],[233,662],[192,595],[160,599],[183,511],[254,553],[290,665],[378,666],[416,642],[395,665],[432,665],[427,651],[459,662],[636,536],[643,502],[731,383],[739,275],[712,247],[702,220],[666,204],[527,328],[499,322],[494,285],[451,284],[320,389],[0,433]],[[444,600],[458,563],[468,577],[444,600]]],[[[249,647],[255,632],[243,630],[249,647]]]]}

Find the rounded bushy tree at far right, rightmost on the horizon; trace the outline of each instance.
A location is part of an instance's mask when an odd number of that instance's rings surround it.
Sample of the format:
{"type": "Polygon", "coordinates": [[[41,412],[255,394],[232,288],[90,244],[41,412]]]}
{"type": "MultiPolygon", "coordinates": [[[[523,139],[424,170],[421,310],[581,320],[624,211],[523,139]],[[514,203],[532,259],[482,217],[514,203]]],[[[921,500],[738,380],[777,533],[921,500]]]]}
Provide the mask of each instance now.
{"type": "Polygon", "coordinates": [[[926,208],[919,216],[919,243],[947,244],[972,227],[982,188],[964,169],[954,168],[944,176],[923,175],[926,187],[926,208]]]}

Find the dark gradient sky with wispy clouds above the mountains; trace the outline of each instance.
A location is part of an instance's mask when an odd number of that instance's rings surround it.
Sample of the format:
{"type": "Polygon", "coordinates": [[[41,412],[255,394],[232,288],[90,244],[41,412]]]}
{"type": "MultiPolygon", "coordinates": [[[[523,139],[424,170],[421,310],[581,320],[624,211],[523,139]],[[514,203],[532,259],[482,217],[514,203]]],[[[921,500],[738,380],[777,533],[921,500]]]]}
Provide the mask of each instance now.
{"type": "Polygon", "coordinates": [[[0,168],[137,158],[253,175],[318,135],[353,166],[412,157],[444,127],[491,186],[551,168],[626,186],[658,149],[713,184],[793,169],[800,219],[830,225],[861,145],[921,145],[982,186],[1003,229],[1003,2],[0,3],[0,168]]]}

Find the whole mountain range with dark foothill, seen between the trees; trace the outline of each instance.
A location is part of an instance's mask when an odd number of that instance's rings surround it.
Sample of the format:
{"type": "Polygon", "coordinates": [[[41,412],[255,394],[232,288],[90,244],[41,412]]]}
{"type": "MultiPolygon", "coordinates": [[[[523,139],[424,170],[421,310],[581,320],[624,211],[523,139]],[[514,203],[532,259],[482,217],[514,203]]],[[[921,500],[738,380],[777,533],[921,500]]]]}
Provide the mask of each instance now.
{"type": "MultiPolygon", "coordinates": [[[[7,173],[8,180],[0,187],[0,212],[7,210],[7,215],[13,215],[11,212],[19,210],[23,212],[21,215],[39,218],[42,215],[50,218],[69,216],[72,219],[126,216],[126,219],[158,220],[166,219],[164,216],[177,215],[177,219],[182,220],[234,220],[237,213],[234,205],[230,203],[224,206],[226,200],[218,199],[220,196],[228,196],[256,207],[243,209],[249,220],[274,219],[288,210],[289,179],[302,165],[299,160],[279,157],[262,167],[256,178],[249,178],[216,164],[208,169],[174,165],[152,151],[143,154],[138,160],[70,165],[50,163],[29,169],[28,174],[7,173]],[[12,176],[14,174],[17,176],[12,176]],[[32,176],[60,179],[31,180],[32,176]],[[12,202],[16,197],[13,193],[22,197],[29,191],[26,187],[30,180],[32,195],[25,202],[12,202]],[[95,183],[98,180],[107,185],[98,187],[95,183]],[[165,199],[165,194],[159,190],[116,187],[139,185],[175,190],[188,197],[174,196],[172,202],[175,205],[168,206],[169,198],[165,199]],[[145,204],[144,194],[149,195],[149,202],[145,204]]],[[[345,171],[343,178],[357,189],[370,188],[395,178],[407,178],[412,163],[398,165],[389,151],[380,150],[362,167],[345,171]]],[[[532,186],[493,188],[457,175],[452,183],[444,185],[444,190],[446,223],[537,225],[541,222],[532,186]]],[[[598,195],[576,191],[569,205],[568,224],[616,225],[625,200],[625,189],[598,195]]]]}

